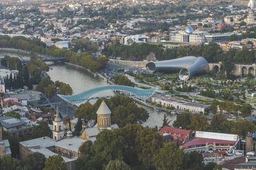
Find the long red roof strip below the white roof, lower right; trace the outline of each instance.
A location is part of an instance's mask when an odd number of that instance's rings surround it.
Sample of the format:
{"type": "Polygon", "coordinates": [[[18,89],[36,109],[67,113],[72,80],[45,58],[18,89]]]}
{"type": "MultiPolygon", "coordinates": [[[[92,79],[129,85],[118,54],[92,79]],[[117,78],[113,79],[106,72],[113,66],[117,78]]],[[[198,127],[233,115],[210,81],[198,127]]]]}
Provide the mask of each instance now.
{"type": "Polygon", "coordinates": [[[219,139],[212,139],[212,138],[191,138],[191,140],[187,141],[183,145],[186,147],[194,146],[194,145],[205,145],[208,144],[232,144],[235,145],[236,141],[226,141],[226,140],[219,140],[219,139]]]}

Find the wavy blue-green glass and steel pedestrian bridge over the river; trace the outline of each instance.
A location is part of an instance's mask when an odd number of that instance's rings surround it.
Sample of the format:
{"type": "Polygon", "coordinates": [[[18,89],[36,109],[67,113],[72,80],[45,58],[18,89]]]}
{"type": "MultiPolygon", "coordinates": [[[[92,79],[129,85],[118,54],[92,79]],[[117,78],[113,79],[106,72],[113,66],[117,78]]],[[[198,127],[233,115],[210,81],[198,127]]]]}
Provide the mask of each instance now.
{"type": "Polygon", "coordinates": [[[96,88],[92,88],[89,90],[85,90],[76,95],[58,95],[61,99],[71,103],[71,104],[82,104],[86,101],[89,101],[94,95],[98,93],[102,93],[107,90],[119,91],[122,93],[126,93],[127,95],[131,95],[131,97],[136,99],[146,100],[151,97],[156,92],[156,87],[142,90],[139,88],[134,88],[130,86],[120,86],[120,85],[110,85],[110,86],[100,86],[96,88]]]}

